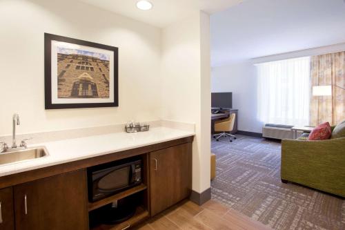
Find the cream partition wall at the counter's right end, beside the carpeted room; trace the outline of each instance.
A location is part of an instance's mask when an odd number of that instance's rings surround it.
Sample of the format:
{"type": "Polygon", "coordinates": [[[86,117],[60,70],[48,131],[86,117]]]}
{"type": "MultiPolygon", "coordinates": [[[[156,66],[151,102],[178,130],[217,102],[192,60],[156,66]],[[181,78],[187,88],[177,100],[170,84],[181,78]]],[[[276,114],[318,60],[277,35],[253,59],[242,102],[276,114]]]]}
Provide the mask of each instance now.
{"type": "Polygon", "coordinates": [[[164,119],[193,122],[193,190],[210,187],[209,17],[195,13],[162,32],[164,119]]]}

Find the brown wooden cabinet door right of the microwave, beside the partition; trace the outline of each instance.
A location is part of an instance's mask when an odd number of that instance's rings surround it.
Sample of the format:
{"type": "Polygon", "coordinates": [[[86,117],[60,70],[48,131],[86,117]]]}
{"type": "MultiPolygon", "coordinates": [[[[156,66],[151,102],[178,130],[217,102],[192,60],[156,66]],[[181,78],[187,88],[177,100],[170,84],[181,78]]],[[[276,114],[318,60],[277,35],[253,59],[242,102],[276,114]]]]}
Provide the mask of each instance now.
{"type": "Polygon", "coordinates": [[[150,153],[151,215],[190,195],[192,144],[180,144],[150,153]]]}

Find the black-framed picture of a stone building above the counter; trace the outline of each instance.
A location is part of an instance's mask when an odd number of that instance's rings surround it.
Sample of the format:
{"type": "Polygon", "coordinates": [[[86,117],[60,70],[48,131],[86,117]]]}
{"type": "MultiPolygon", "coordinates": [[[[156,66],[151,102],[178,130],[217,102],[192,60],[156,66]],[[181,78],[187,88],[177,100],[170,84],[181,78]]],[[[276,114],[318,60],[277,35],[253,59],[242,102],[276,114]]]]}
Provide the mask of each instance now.
{"type": "Polygon", "coordinates": [[[44,34],[46,109],[119,106],[117,47],[44,34]]]}

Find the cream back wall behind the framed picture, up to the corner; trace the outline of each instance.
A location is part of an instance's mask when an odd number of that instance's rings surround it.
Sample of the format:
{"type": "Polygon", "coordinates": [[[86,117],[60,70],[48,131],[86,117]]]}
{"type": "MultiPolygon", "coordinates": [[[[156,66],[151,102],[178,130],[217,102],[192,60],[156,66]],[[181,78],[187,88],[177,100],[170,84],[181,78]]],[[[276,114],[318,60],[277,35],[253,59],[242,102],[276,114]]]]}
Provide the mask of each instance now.
{"type": "Polygon", "coordinates": [[[0,1],[0,135],[159,118],[161,30],[77,1],[0,1]],[[43,33],[119,47],[119,107],[44,110],[43,33]]]}

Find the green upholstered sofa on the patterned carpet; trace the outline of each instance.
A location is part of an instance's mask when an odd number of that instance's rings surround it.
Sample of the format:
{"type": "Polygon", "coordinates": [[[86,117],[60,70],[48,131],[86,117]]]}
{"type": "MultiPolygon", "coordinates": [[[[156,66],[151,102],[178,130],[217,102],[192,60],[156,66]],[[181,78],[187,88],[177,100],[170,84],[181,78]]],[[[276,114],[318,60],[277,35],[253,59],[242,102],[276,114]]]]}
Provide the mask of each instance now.
{"type": "Polygon", "coordinates": [[[282,182],[345,198],[345,137],[338,136],[318,141],[282,140],[282,182]]]}

